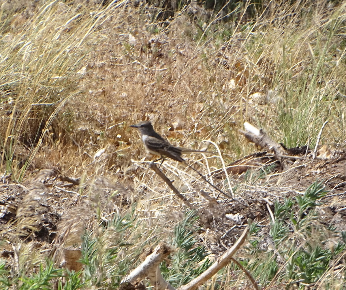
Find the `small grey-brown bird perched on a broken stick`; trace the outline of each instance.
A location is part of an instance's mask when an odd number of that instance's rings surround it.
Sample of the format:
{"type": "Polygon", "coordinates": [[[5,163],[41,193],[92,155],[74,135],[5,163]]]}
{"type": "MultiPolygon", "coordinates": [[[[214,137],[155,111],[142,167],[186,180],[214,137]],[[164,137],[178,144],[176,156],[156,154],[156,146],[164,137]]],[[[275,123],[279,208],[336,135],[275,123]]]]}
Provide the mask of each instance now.
{"type": "Polygon", "coordinates": [[[213,153],[211,151],[201,151],[173,146],[155,132],[150,121],[142,121],[138,124],[130,125],[130,127],[137,128],[139,130],[146,150],[154,155],[160,156],[160,159],[158,160],[164,160],[166,157],[168,157],[179,162],[185,162],[185,160],[181,157],[182,154],[213,153]]]}

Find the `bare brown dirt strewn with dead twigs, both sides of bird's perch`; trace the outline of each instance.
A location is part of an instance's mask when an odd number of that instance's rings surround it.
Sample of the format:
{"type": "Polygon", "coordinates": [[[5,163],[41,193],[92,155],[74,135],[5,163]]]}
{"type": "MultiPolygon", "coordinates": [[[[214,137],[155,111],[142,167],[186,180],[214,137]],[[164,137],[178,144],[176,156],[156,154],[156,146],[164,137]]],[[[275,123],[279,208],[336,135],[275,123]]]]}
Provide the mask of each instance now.
{"type": "MultiPolygon", "coordinates": [[[[212,253],[217,255],[231,246],[249,218],[267,225],[276,199],[303,194],[316,180],[329,191],[320,207],[321,218],[338,230],[346,230],[346,149],[322,146],[315,159],[312,150],[303,149],[290,150],[291,154],[281,160],[258,152],[227,167],[231,183],[243,184],[242,190],[236,191],[234,199],[220,195],[197,204],[200,224],[206,230],[201,235],[209,236],[207,247],[212,253]]],[[[219,186],[224,183],[224,171],[214,172],[214,176],[219,186]]],[[[133,183],[131,177],[116,183],[98,178],[92,184],[84,184],[55,169],[42,169],[22,184],[11,183],[9,176],[2,176],[0,232],[6,240],[1,244],[2,258],[8,262],[13,259],[13,245],[18,239],[51,253],[62,240],[70,240],[69,245],[80,243],[78,235],[91,218],[90,206],[95,202],[92,199],[98,199],[105,211],[112,211],[115,206],[128,208],[136,195],[133,183]],[[94,193],[92,197],[82,195],[88,188],[94,193]],[[81,221],[84,226],[71,229],[71,224],[81,221]],[[68,238],[66,232],[71,233],[68,238]]]]}

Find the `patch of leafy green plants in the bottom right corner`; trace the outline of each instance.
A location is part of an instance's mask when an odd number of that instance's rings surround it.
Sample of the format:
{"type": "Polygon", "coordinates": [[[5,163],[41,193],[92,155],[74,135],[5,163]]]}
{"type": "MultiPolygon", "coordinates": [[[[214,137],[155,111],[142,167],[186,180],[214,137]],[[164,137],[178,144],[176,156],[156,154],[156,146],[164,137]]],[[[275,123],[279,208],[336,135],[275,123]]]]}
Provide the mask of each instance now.
{"type": "MultiPolygon", "coordinates": [[[[279,281],[315,283],[328,271],[333,259],[344,255],[345,234],[334,228],[333,235],[339,238],[332,251],[325,245],[325,236],[333,228],[317,223],[316,206],[322,204],[321,198],[326,193],[322,183],[316,181],[302,196],[275,201],[269,236],[252,235],[250,250],[256,258],[243,261],[263,284],[274,277],[280,277],[279,281]],[[263,243],[270,251],[263,253],[263,243]]],[[[258,232],[257,226],[252,225],[252,232],[258,232]]]]}

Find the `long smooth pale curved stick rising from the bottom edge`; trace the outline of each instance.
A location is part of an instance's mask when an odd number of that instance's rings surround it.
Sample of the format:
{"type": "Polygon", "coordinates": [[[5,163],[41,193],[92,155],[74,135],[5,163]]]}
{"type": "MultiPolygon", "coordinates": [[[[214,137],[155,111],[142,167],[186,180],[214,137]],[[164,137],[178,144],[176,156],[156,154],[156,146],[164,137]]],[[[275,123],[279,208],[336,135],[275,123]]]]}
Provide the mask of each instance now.
{"type": "Polygon", "coordinates": [[[215,275],[220,269],[224,268],[229,261],[230,258],[236,253],[236,251],[240,248],[240,246],[245,242],[247,233],[249,231],[249,226],[245,228],[242,235],[238,238],[235,244],[226,251],[217,261],[212,264],[206,271],[204,271],[197,278],[193,279],[189,283],[184,286],[178,288],[178,290],[194,290],[208,279],[210,279],[213,275],[215,275]]]}

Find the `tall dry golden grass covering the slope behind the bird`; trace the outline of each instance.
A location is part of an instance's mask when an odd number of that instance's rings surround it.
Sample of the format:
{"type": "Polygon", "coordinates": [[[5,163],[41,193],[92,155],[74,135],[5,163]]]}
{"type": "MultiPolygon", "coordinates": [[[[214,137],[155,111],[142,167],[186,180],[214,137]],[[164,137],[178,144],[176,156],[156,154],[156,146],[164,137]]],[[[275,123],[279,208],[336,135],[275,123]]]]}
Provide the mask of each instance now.
{"type": "MultiPolygon", "coordinates": [[[[318,2],[313,13],[306,9],[269,7],[252,24],[210,24],[202,36],[184,15],[164,27],[144,8],[120,3],[48,2],[32,18],[17,13],[15,28],[3,34],[2,157],[11,160],[25,146],[28,161],[40,161],[36,168],[57,165],[74,173],[69,168],[78,160],[81,173],[105,148],[103,170],[126,172],[140,147],[128,125],[145,118],[174,143],[217,142],[227,160],[248,151],[236,132],[243,121],[296,146],[313,143],[327,119],[325,142],[342,142],[344,7],[328,10],[318,2]],[[285,100],[284,109],[254,98],[269,89],[285,100]]],[[[16,165],[7,169],[18,171],[16,165]]]]}

